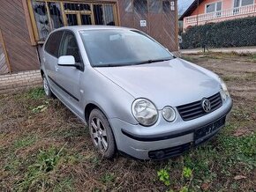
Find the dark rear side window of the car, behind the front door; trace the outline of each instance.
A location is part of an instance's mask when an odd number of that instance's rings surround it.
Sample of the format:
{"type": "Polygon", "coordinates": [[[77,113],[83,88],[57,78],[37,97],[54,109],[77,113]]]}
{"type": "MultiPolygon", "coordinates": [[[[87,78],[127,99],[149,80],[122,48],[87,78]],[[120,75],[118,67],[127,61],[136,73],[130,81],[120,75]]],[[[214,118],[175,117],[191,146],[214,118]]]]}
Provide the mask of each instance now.
{"type": "Polygon", "coordinates": [[[57,31],[55,33],[51,33],[48,41],[45,44],[45,51],[50,55],[58,57],[58,48],[63,35],[63,31],[57,31]]]}

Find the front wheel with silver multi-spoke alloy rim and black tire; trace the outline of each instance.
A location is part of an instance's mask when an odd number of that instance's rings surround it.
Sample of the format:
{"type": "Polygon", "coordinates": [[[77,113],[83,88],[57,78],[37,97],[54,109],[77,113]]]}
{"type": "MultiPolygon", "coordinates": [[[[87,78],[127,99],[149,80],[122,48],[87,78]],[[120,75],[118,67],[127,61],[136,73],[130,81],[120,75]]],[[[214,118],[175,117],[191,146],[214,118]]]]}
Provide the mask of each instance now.
{"type": "Polygon", "coordinates": [[[113,159],[117,145],[108,119],[98,108],[94,108],[89,116],[89,131],[94,146],[106,159],[113,159]]]}

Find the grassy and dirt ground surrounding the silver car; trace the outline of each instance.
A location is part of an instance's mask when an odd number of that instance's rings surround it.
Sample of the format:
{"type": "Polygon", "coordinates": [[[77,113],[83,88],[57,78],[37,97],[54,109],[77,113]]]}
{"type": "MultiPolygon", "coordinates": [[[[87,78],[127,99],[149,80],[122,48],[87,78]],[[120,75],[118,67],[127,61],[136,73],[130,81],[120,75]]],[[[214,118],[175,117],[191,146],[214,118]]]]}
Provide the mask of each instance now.
{"type": "Polygon", "coordinates": [[[230,88],[230,122],[213,140],[163,161],[106,160],[87,127],[41,88],[0,95],[0,190],[255,191],[256,56],[184,59],[214,70],[230,88]]]}

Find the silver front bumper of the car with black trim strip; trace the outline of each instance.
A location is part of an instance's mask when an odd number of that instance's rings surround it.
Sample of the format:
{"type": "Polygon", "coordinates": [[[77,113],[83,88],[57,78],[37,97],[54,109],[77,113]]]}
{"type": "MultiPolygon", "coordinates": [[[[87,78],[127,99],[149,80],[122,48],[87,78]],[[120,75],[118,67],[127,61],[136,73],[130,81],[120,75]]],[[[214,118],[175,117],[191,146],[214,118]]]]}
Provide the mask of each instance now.
{"type": "Polygon", "coordinates": [[[160,115],[152,127],[133,125],[120,119],[109,119],[113,129],[117,149],[137,159],[166,159],[181,154],[192,145],[201,144],[224,127],[226,116],[230,113],[232,100],[226,100],[222,107],[200,118],[184,122],[178,115],[173,123],[166,122],[160,115]],[[224,122],[206,137],[194,140],[194,132],[209,123],[224,122]]]}

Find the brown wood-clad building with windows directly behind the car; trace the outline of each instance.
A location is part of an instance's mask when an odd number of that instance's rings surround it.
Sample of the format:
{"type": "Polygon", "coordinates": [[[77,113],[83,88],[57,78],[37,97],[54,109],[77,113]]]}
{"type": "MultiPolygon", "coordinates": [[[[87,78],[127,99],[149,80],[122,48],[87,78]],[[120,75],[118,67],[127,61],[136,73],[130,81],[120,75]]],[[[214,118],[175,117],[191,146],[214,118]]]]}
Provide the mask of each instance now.
{"type": "Polygon", "coordinates": [[[10,0],[0,6],[0,74],[39,69],[39,50],[61,26],[137,28],[177,51],[177,0],[10,0]]]}

